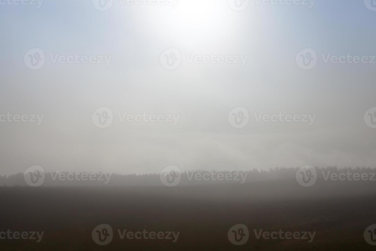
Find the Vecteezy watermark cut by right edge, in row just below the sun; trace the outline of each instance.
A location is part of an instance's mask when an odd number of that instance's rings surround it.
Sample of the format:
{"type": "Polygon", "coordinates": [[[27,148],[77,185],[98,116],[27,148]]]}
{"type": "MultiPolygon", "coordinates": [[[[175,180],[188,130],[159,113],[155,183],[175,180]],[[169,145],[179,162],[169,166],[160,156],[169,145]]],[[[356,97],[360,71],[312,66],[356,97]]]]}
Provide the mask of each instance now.
{"type": "MultiPolygon", "coordinates": [[[[347,55],[321,54],[324,64],[376,64],[376,56],[356,56],[347,53],[347,55]]],[[[311,70],[317,64],[317,53],[314,49],[303,49],[296,55],[296,64],[303,70],[311,70]]]]}

